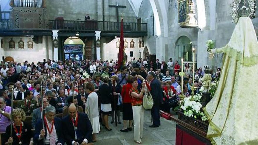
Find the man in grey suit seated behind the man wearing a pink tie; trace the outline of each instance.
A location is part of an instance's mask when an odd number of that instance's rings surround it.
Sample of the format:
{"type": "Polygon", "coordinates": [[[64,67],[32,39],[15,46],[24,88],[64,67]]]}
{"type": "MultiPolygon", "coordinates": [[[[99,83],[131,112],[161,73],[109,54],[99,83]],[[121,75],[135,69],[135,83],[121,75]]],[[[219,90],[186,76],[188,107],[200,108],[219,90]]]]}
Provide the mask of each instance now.
{"type": "MultiPolygon", "coordinates": [[[[38,100],[39,101],[39,104],[41,106],[41,99],[38,100]]],[[[47,101],[47,98],[43,98],[43,110],[49,105],[48,101],[47,101]]],[[[34,109],[33,112],[32,112],[32,120],[31,120],[31,125],[32,125],[32,128],[34,129],[35,128],[35,124],[36,122],[39,120],[39,119],[42,119],[42,108],[37,108],[37,109],[34,109]]]]}

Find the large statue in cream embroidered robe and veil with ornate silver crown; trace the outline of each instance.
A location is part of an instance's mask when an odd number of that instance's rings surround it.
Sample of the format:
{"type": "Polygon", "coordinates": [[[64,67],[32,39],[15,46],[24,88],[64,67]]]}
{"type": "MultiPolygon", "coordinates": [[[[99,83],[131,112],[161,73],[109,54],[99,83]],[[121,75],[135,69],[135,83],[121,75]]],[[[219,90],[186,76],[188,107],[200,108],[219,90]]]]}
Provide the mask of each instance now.
{"type": "Polygon", "coordinates": [[[245,5],[250,1],[237,9],[229,43],[211,50],[224,53],[218,88],[204,108],[212,144],[258,144],[258,42],[245,5]]]}

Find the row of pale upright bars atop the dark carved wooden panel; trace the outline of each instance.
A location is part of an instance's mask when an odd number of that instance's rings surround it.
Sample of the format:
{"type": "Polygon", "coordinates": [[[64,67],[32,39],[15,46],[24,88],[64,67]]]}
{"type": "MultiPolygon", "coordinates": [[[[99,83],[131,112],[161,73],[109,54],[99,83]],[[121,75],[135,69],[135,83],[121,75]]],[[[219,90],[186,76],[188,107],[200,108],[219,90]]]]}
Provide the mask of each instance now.
{"type": "Polygon", "coordinates": [[[42,8],[43,0],[12,0],[13,6],[42,8]]]}

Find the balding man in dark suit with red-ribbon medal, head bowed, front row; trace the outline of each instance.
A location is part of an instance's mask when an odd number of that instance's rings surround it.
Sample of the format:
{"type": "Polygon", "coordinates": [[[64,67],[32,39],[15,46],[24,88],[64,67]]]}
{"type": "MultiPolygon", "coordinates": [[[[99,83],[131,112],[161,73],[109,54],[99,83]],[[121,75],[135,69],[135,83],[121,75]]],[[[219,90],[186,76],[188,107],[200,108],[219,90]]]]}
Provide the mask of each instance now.
{"type": "Polygon", "coordinates": [[[68,113],[62,119],[62,129],[65,132],[66,144],[88,144],[92,142],[92,127],[88,116],[85,113],[78,113],[74,103],[68,107],[68,113]]]}

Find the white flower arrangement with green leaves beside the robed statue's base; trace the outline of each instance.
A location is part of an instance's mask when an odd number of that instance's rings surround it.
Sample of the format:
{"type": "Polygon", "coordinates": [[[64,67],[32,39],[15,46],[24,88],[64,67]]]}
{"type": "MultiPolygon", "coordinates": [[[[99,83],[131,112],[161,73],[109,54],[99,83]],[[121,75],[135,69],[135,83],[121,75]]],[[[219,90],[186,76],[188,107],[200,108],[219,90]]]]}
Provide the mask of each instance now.
{"type": "Polygon", "coordinates": [[[195,119],[201,118],[203,121],[208,120],[207,116],[201,111],[201,97],[202,95],[196,94],[193,97],[189,96],[184,98],[181,102],[181,109],[184,111],[184,115],[187,117],[194,117],[195,119]]]}

